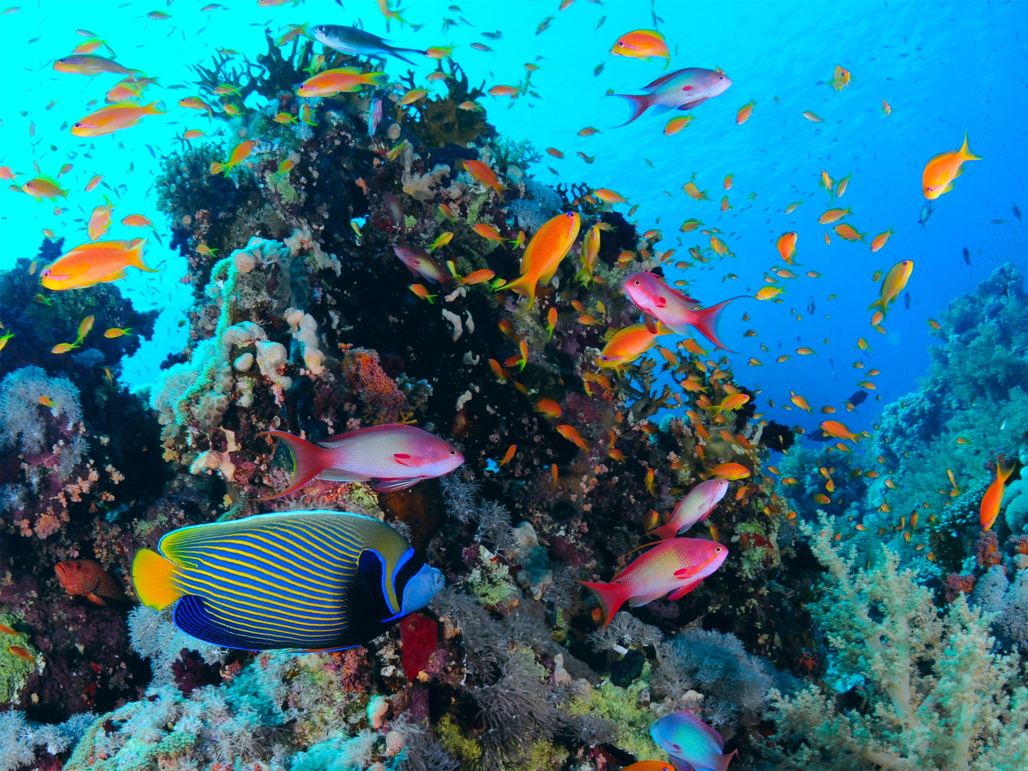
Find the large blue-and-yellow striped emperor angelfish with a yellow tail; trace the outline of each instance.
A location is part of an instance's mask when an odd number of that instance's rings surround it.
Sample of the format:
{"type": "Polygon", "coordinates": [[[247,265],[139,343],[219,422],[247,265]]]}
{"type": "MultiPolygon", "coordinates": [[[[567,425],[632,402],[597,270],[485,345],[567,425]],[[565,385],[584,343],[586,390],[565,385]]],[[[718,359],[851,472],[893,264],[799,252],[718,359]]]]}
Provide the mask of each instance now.
{"type": "Polygon", "coordinates": [[[137,552],[132,578],[143,604],[175,603],[182,631],[244,651],[363,645],[444,583],[395,528],[344,511],[180,527],[137,552]]]}

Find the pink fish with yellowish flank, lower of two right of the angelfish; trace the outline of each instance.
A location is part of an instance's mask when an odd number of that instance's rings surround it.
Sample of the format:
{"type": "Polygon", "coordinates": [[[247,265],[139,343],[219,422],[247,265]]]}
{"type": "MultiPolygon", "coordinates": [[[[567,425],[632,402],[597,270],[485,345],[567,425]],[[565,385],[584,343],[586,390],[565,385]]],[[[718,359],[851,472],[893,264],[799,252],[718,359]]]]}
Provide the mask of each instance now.
{"type": "Polygon", "coordinates": [[[728,547],[717,541],[672,538],[656,542],[608,584],[579,583],[599,599],[603,607],[603,628],[607,628],[625,602],[638,608],[665,594],[668,599],[686,596],[721,567],[727,556],[728,547]]]}

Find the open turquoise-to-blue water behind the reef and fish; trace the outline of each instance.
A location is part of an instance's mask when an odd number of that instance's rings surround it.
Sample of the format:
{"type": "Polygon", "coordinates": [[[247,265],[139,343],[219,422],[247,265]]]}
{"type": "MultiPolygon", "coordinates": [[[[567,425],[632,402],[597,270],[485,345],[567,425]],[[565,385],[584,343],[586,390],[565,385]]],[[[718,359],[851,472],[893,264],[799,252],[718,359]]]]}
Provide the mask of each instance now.
{"type": "MultiPolygon", "coordinates": [[[[712,261],[702,270],[669,270],[671,279],[689,279],[690,294],[704,304],[765,286],[765,271],[782,264],[775,241],[783,232],[798,231],[798,262],[821,278],[809,279],[798,270],[801,279],[786,282],[782,302],[740,300],[727,313],[723,328],[727,344],[739,352],[731,357],[737,380],[763,389],[760,409],[783,423],[812,429],[820,419],[817,408],[834,405],[851,428],[870,428],[873,400],[856,415],[847,415],[842,407],[866,379],[864,373],[881,370],[874,378],[874,395],[881,395],[883,402],[912,390],[929,362],[926,320],[938,317],[951,299],[999,264],[1011,261],[1023,267],[1028,261],[1028,228],[1012,208],[1016,203],[1021,211],[1028,210],[1028,3],[658,1],[652,6],[578,0],[559,11],[558,0],[539,0],[457,2],[460,10],[453,11],[450,2],[410,2],[403,15],[424,25],[416,32],[395,21],[387,29],[374,2],[346,0],[340,6],[307,0],[260,7],[256,0],[235,0],[203,13],[205,4],[44,0],[0,15],[0,163],[27,173],[20,183],[34,176],[33,161],[48,175],[56,175],[65,162],[73,164],[61,180],[71,190],[67,204],[59,204],[66,210],[63,215],[53,214],[52,204],[0,190],[0,268],[10,267],[19,257],[34,256],[43,228],[66,237],[66,249],[86,241],[85,219],[104,203],[104,194],[116,204],[115,225],[107,237],[136,237],[140,230],[118,223],[128,214],[149,217],[164,246],[151,238],[147,261],[162,265],[162,270],[132,271],[119,286],[138,306],[160,308],[162,315],[154,340],[124,367],[122,379],[128,384],[150,381],[159,362],[186,342],[186,328],[177,326],[190,303],[189,287],[180,282],[186,265],[168,249],[167,222],[155,209],[158,158],[181,146],[176,137],[186,128],[220,133],[222,138],[215,141],[229,148],[238,141],[227,136],[222,121],[177,105],[196,93],[191,86],[168,86],[190,84],[188,66],[207,63],[217,48],[233,48],[251,58],[264,52],[264,29],[278,34],[287,24],[360,20],[365,29],[397,45],[452,43],[455,61],[473,83],[484,81],[486,88],[517,84],[525,75],[524,63],[538,64],[541,69],[531,83],[540,98],[483,97],[480,102],[490,122],[502,135],[564,154],[563,159],[544,154],[529,170],[543,182],[587,182],[639,205],[633,219],[640,230],[659,228],[664,241],[658,249],[675,248],[674,260],[688,259],[688,247],[707,244],[696,231],[680,233],[684,220],[698,217],[705,226],[722,230],[736,257],[712,261]],[[148,19],[154,10],[171,19],[148,19]],[[652,28],[653,13],[662,20],[658,29],[672,52],[666,71],[662,60],[641,62],[609,53],[619,35],[652,28]],[[547,16],[553,16],[548,28],[537,34],[547,16]],[[468,24],[458,21],[443,32],[446,17],[468,24]],[[169,113],[107,137],[72,137],[67,125],[95,109],[87,107],[90,100],[102,103],[106,90],[120,79],[52,70],[54,59],[85,39],[76,30],[97,33],[119,63],[156,77],[162,87],[149,89],[147,101],[163,100],[169,113]],[[503,34],[500,40],[481,35],[498,31],[503,34]],[[485,43],[493,51],[475,50],[472,42],[485,43]],[[600,64],[602,71],[595,75],[600,64]],[[819,83],[832,77],[836,65],[853,78],[850,87],[838,94],[819,83]],[[680,134],[663,135],[670,115],[647,114],[630,125],[611,127],[629,113],[621,100],[604,99],[609,89],[638,94],[664,72],[715,66],[729,75],[732,87],[696,108],[695,120],[680,134]],[[888,117],[880,111],[883,99],[892,107],[888,117]],[[750,100],[757,101],[752,116],[736,125],[736,112],[750,100]],[[805,110],[824,122],[808,121],[802,115],[805,110]],[[589,125],[600,133],[577,136],[589,125]],[[965,131],[971,150],[984,159],[966,164],[966,174],[935,201],[922,230],[921,171],[931,156],[959,147],[965,131]],[[585,163],[578,151],[595,156],[594,162],[585,163]],[[822,233],[828,228],[817,223],[831,203],[817,185],[822,169],[835,179],[853,175],[840,205],[852,207],[851,222],[868,231],[869,242],[890,226],[896,231],[883,250],[872,254],[867,245],[845,243],[834,233],[832,244],[825,245],[822,233]],[[712,201],[693,201],[683,192],[693,173],[700,189],[710,189],[712,201]],[[110,187],[85,193],[95,174],[105,175],[110,187]],[[728,193],[734,208],[721,214],[722,182],[728,174],[735,175],[728,193]],[[746,200],[750,193],[757,197],[746,200]],[[783,214],[790,203],[800,199],[807,203],[783,214]],[[962,256],[964,248],[969,265],[962,256]],[[897,301],[882,336],[870,326],[871,313],[866,310],[879,292],[872,274],[903,259],[915,263],[907,287],[911,306],[907,310],[903,298],[897,301]],[[738,279],[726,278],[729,273],[738,279]],[[807,309],[811,300],[814,313],[807,309]],[[741,320],[743,313],[749,321],[741,320]],[[756,329],[758,336],[743,337],[746,329],[756,329]],[[867,338],[873,353],[855,346],[858,337],[867,338]],[[761,351],[761,342],[770,351],[761,351]],[[801,345],[816,355],[795,355],[801,345]],[[793,358],[775,363],[782,354],[793,358]],[[747,366],[750,358],[763,366],[747,366]],[[854,369],[854,361],[866,362],[867,369],[854,369]],[[766,397],[787,404],[791,390],[807,399],[815,415],[767,408],[766,397]]],[[[417,68],[420,78],[435,69],[435,62],[424,62],[417,68]]],[[[406,70],[402,62],[389,60],[391,75],[406,70]]],[[[623,213],[629,209],[617,208],[623,213]]],[[[1002,418],[996,419],[998,426],[1002,418]]]]}

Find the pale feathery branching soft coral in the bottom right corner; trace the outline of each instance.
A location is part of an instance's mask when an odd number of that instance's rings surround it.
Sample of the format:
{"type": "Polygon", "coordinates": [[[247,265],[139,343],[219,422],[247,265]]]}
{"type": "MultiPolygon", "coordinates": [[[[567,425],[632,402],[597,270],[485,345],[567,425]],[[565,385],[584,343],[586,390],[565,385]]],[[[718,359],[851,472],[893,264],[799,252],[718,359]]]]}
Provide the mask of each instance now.
{"type": "Polygon", "coordinates": [[[942,614],[892,552],[854,564],[824,518],[807,534],[828,568],[813,614],[832,649],[829,678],[862,703],[842,710],[815,685],[772,690],[776,768],[1023,768],[1028,689],[1018,656],[993,652],[988,618],[963,595],[942,614]]]}

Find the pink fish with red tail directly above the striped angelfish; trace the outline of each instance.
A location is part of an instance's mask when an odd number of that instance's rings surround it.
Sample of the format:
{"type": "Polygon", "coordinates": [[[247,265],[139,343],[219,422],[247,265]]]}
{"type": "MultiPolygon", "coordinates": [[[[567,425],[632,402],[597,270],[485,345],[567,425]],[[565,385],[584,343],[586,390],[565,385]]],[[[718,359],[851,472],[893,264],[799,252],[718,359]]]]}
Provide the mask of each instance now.
{"type": "Polygon", "coordinates": [[[464,455],[449,442],[415,426],[387,424],[338,434],[313,444],[285,431],[258,436],[281,439],[293,454],[289,486],[265,500],[288,495],[315,477],[333,482],[374,480],[376,492],[402,490],[423,479],[449,474],[464,455]]]}

